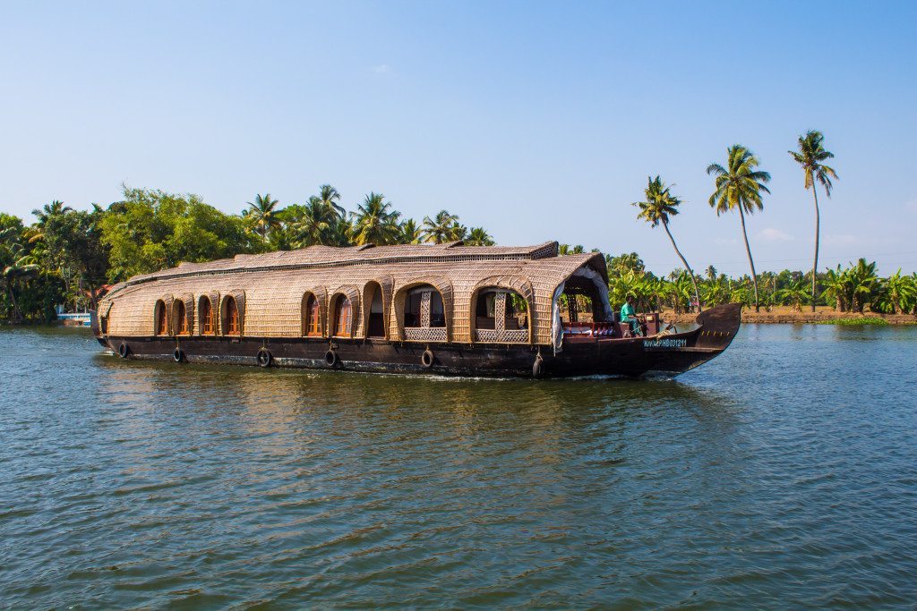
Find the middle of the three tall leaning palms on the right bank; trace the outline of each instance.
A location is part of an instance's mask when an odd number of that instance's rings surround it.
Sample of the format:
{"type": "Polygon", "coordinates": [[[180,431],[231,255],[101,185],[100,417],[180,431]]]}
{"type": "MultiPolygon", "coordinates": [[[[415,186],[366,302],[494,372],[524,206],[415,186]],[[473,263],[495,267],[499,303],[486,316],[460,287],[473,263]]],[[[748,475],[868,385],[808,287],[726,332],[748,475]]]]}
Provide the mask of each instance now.
{"type": "Polygon", "coordinates": [[[755,285],[755,311],[761,311],[757,299],[757,275],[755,274],[755,260],[751,256],[751,247],[748,245],[748,232],[745,226],[745,213],[752,214],[755,210],[763,210],[761,191],[769,193],[765,186],[770,181],[768,172],[756,169],[760,162],[755,154],[742,145],[733,145],[726,151],[726,168],[718,163],[707,166],[707,174],[716,178],[716,190],[710,196],[710,205],[716,209],[716,215],[739,211],[742,223],[742,236],[745,238],[748,265],[751,267],[751,279],[755,285]]]}

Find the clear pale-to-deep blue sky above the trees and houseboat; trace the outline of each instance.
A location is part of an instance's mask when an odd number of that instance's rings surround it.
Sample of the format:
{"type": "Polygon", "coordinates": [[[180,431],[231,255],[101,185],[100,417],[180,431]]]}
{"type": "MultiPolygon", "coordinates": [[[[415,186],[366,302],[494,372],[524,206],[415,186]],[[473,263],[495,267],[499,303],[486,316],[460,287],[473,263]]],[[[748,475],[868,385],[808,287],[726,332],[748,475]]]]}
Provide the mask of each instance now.
{"type": "Polygon", "coordinates": [[[769,171],[748,219],[757,270],[812,266],[812,192],[788,150],[825,135],[840,176],[819,267],[917,270],[917,3],[0,2],[0,211],[31,222],[131,187],[238,213],[331,183],[383,193],[503,245],[636,251],[649,175],[697,270],[748,270],[710,163],[769,171]]]}

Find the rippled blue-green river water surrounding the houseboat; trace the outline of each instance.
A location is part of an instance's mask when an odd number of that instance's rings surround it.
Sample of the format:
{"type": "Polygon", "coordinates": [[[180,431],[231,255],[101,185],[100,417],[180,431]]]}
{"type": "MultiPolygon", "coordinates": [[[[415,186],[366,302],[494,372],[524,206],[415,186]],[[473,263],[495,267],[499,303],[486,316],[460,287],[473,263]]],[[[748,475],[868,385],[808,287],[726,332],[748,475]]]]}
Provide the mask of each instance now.
{"type": "Polygon", "coordinates": [[[917,328],[678,381],[120,361],[0,330],[0,606],[917,603],[917,328]]]}

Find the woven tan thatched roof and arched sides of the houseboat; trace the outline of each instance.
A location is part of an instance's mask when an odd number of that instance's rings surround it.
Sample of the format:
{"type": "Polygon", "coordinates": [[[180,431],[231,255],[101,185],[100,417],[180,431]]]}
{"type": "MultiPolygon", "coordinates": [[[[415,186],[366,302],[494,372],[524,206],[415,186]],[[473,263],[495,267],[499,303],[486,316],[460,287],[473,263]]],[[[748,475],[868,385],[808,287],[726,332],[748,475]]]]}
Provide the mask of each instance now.
{"type": "MultiPolygon", "coordinates": [[[[558,256],[557,242],[535,246],[392,245],[310,246],[301,250],[239,255],[210,263],[136,276],[116,285],[100,303],[112,335],[152,334],[157,300],[182,300],[185,311],[207,296],[215,310],[228,295],[244,304],[243,334],[299,337],[303,334],[304,296],[315,295],[323,312],[338,293],[351,300],[353,336],[364,337],[375,284],[381,289],[386,335],[403,341],[403,299],[418,285],[434,286],[443,297],[449,341],[470,343],[474,295],[483,288],[511,289],[525,298],[531,313],[531,342],[550,344],[555,289],[580,267],[607,282],[602,255],[558,256]],[[373,284],[375,283],[375,284],[373,284]]],[[[188,313],[189,316],[193,314],[188,313]]],[[[200,333],[200,321],[192,333],[200,333]]],[[[326,327],[325,327],[326,328],[326,327]]]]}

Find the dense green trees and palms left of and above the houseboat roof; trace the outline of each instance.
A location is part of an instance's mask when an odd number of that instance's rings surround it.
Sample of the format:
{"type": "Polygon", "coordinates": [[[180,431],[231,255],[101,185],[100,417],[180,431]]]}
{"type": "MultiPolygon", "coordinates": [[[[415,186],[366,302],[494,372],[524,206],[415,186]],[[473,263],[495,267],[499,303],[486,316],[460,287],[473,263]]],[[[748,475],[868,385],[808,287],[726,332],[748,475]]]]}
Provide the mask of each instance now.
{"type": "Polygon", "coordinates": [[[94,308],[106,284],[182,261],[310,245],[495,244],[486,229],[468,227],[447,210],[419,222],[405,218],[381,193],[348,212],[331,185],[287,206],[259,194],[238,214],[190,194],[124,187],[122,195],[90,211],[50,202],[33,211],[30,225],[0,213],[0,319],[50,321],[57,305],[94,308]]]}

